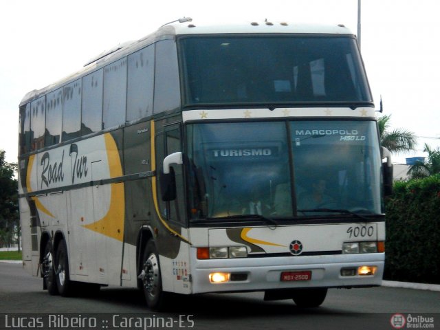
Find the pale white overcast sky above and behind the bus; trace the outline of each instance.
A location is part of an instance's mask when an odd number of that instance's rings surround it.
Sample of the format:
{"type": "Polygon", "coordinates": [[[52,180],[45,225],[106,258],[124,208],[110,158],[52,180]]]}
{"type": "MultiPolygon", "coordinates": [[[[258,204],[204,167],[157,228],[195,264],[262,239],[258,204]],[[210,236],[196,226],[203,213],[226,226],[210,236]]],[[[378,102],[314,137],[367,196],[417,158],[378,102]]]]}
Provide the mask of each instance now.
{"type": "MultiPolygon", "coordinates": [[[[439,0],[362,0],[361,52],[391,130],[415,133],[417,151],[440,147],[439,0]]],[[[0,149],[17,162],[19,103],[115,45],[181,17],[192,23],[344,24],[358,33],[358,0],[14,0],[0,1],[0,149]]],[[[380,113],[377,113],[380,115],[380,113]]]]}

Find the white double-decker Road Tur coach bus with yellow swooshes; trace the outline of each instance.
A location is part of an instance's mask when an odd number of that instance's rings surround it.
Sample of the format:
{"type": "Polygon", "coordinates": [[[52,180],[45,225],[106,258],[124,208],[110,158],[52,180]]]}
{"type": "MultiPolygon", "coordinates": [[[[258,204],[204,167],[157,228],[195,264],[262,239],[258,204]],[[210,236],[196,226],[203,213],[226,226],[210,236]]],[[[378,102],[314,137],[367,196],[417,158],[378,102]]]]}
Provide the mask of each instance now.
{"type": "Polygon", "coordinates": [[[391,159],[343,25],[169,23],[31,91],[19,134],[23,264],[50,294],[316,307],[382,283],[391,159]]]}

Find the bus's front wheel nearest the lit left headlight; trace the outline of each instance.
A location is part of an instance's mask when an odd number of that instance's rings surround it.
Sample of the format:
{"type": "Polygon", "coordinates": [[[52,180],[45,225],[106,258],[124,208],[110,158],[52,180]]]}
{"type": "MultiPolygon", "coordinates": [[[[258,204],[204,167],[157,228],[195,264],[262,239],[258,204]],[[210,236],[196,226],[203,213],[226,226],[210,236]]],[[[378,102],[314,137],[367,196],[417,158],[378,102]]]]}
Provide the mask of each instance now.
{"type": "Polygon", "coordinates": [[[162,290],[159,254],[152,240],[145,246],[139,278],[142,280],[142,291],[148,307],[153,311],[164,310],[168,293],[162,290]]]}

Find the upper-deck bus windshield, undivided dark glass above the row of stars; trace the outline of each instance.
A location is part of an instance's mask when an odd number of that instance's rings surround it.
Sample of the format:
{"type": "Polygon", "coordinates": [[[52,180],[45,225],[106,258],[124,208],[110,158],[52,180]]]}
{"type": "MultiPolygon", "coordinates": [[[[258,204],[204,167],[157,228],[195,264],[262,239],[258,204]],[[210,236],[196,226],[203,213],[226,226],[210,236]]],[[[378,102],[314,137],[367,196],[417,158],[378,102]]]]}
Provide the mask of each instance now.
{"type": "Polygon", "coordinates": [[[187,36],[184,106],[371,103],[349,36],[187,36]]]}

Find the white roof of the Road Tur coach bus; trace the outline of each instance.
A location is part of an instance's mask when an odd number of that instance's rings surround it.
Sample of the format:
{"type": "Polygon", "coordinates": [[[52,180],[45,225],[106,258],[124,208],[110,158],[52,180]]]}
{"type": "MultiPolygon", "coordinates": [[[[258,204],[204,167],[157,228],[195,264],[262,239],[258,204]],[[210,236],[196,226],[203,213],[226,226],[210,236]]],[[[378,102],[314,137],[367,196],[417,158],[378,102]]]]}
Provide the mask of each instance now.
{"type": "Polygon", "coordinates": [[[191,34],[330,34],[330,35],[353,35],[351,30],[344,25],[317,25],[317,24],[300,24],[289,22],[270,22],[270,21],[253,21],[241,24],[197,24],[192,23],[191,19],[181,19],[184,23],[179,23],[179,20],[172,23],[162,25],[158,30],[152,34],[144,36],[144,38],[122,43],[108,51],[102,52],[95,56],[84,65],[84,69],[75,72],[56,83],[53,83],[42,89],[34,89],[28,92],[20,102],[20,106],[26,104],[36,98],[39,98],[49,91],[54,91],[63,87],[67,83],[85,76],[91,72],[96,71],[100,67],[118,61],[118,59],[131,54],[142,47],[146,47],[155,41],[172,38],[173,36],[191,35],[191,34]]]}

